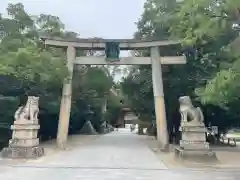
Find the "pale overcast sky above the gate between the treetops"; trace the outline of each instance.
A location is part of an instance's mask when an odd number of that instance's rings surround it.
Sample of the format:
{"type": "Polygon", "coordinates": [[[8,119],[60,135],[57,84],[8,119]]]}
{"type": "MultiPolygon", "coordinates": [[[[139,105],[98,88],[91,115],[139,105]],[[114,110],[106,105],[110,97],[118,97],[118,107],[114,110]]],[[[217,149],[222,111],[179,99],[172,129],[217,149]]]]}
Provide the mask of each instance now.
{"type": "Polygon", "coordinates": [[[132,38],[145,0],[0,0],[0,12],[18,2],[32,15],[60,17],[67,30],[84,38],[132,38]]]}

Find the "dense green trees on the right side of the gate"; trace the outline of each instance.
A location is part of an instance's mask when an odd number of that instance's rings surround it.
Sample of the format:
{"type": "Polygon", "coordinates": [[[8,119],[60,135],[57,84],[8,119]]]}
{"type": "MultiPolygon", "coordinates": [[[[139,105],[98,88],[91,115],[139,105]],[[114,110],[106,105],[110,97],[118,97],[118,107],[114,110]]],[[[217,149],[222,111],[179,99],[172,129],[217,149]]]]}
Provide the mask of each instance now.
{"type": "MultiPolygon", "coordinates": [[[[165,103],[168,129],[179,125],[178,97],[190,95],[195,103],[202,103],[206,122],[211,119],[215,125],[224,124],[225,128],[236,124],[240,115],[239,105],[239,30],[240,3],[234,0],[147,0],[144,12],[137,22],[138,39],[178,39],[182,48],[172,46],[162,48],[162,55],[185,54],[187,64],[183,66],[163,66],[165,103]],[[206,107],[211,107],[206,111],[206,107]],[[213,111],[224,112],[224,121],[217,121],[211,116],[213,111]],[[227,117],[227,118],[226,118],[227,117]],[[234,121],[234,122],[233,122],[234,121]],[[228,122],[227,124],[225,122],[228,122]]],[[[148,53],[148,52],[144,52],[148,53]]],[[[137,53],[138,55],[146,55],[137,53]]],[[[149,55],[149,54],[148,54],[149,55]]],[[[153,98],[142,91],[151,89],[146,82],[151,82],[151,69],[135,67],[123,80],[124,93],[128,95],[132,107],[137,112],[144,112],[150,119],[153,98]],[[144,70],[143,70],[144,69],[144,70]],[[134,77],[138,76],[138,79],[134,77]],[[131,83],[132,84],[131,84],[131,83]],[[141,85],[138,84],[141,82],[141,85]],[[127,89],[127,90],[126,90],[127,89]],[[143,90],[144,89],[144,90],[143,90]],[[149,98],[151,99],[149,102],[149,98]]],[[[150,94],[149,94],[150,95],[150,94]]],[[[215,112],[216,113],[216,112],[215,112]]],[[[238,123],[240,124],[240,123],[238,123]]],[[[221,126],[222,127],[222,126],[221,126]]],[[[176,129],[178,129],[176,127],[176,129]]]]}

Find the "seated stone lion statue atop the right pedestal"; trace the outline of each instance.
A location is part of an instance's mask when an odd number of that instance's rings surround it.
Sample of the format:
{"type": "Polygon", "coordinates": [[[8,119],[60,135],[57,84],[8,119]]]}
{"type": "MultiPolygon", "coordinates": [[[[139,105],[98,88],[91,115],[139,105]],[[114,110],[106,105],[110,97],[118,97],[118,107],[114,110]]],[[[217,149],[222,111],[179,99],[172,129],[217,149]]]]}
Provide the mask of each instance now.
{"type": "Polygon", "coordinates": [[[202,124],[204,116],[200,107],[194,107],[189,96],[179,98],[181,123],[193,122],[202,124]]]}

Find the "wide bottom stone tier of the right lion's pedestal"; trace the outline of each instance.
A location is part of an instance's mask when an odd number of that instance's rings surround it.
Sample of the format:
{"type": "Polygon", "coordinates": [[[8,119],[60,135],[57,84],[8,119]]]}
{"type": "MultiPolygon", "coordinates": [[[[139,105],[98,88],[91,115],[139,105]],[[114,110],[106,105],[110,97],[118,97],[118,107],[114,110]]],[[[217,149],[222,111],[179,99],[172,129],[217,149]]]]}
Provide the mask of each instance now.
{"type": "Polygon", "coordinates": [[[217,162],[216,153],[208,149],[185,150],[175,148],[175,157],[180,160],[190,160],[198,162],[217,162]]]}

